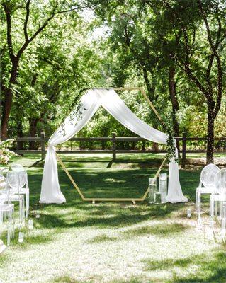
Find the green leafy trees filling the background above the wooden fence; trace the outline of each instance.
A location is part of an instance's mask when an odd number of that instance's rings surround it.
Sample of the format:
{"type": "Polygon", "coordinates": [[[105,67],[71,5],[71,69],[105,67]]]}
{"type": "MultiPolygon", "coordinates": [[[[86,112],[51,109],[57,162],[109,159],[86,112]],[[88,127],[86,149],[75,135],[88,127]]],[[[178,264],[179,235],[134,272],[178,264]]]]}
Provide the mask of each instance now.
{"type": "MultiPolygon", "coordinates": [[[[49,136],[89,86],[142,86],[176,136],[226,135],[224,0],[1,0],[1,137],[49,136]]],[[[161,128],[140,93],[120,96],[161,128]]],[[[99,110],[82,136],[131,136],[99,110]]],[[[33,148],[34,144],[30,144],[33,148]]]]}

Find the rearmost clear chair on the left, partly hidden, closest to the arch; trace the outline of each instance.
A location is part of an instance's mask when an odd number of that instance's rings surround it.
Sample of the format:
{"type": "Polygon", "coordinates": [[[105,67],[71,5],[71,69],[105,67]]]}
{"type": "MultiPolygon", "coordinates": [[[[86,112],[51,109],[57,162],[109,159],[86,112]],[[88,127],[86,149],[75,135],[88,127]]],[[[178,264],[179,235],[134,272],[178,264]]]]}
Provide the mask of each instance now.
{"type": "Polygon", "coordinates": [[[23,168],[23,166],[21,164],[18,164],[18,163],[12,163],[11,169],[12,169],[12,171],[15,171],[17,173],[23,172],[23,173],[21,173],[21,178],[22,178],[22,176],[23,176],[23,178],[21,179],[22,185],[20,185],[20,190],[21,190],[20,193],[22,195],[25,195],[25,197],[26,197],[26,219],[28,219],[29,205],[30,205],[29,204],[30,191],[29,191],[29,187],[28,187],[28,174],[27,174],[25,168],[23,168]]]}

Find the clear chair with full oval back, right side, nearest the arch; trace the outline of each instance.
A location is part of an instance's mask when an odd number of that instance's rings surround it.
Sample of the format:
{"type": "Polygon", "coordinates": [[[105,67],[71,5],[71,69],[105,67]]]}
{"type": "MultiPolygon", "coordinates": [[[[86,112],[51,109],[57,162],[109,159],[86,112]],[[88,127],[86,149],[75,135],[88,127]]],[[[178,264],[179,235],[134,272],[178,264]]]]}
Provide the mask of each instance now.
{"type": "Polygon", "coordinates": [[[214,177],[220,171],[214,164],[209,164],[203,168],[200,174],[200,183],[196,189],[196,213],[198,214],[198,222],[201,221],[201,195],[213,194],[215,192],[214,177]]]}

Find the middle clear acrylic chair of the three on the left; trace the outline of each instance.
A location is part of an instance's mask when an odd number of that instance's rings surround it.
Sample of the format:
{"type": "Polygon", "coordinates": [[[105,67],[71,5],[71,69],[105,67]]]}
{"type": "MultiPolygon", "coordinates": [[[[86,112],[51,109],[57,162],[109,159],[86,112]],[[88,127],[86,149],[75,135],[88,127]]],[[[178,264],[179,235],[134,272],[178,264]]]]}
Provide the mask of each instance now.
{"type": "Polygon", "coordinates": [[[9,171],[6,175],[6,181],[9,185],[9,201],[19,202],[20,224],[25,218],[24,197],[21,195],[19,175],[15,171],[9,171]]]}

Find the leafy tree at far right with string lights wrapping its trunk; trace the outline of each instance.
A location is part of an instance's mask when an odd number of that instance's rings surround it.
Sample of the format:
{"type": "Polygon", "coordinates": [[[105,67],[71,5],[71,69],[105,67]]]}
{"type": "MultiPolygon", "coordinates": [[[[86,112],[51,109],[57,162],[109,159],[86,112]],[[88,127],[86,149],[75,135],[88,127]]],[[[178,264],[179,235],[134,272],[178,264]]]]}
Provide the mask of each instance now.
{"type": "MultiPolygon", "coordinates": [[[[150,5],[149,1],[146,1],[150,5]]],[[[177,66],[198,91],[205,96],[208,108],[207,162],[213,163],[214,122],[220,110],[223,80],[223,50],[226,39],[226,5],[217,0],[157,2],[164,22],[168,21],[176,45],[177,66]]]]}

